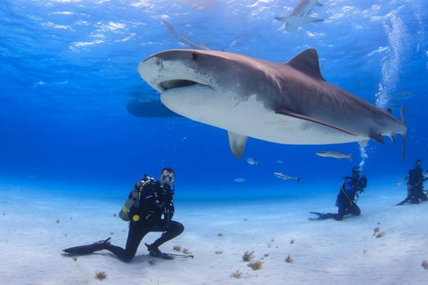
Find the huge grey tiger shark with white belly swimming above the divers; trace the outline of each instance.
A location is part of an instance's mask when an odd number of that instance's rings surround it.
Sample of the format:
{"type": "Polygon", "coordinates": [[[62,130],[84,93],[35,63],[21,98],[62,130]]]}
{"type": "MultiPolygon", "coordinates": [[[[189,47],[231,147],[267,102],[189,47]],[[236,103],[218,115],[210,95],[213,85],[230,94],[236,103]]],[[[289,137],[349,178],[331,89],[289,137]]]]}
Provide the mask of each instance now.
{"type": "Polygon", "coordinates": [[[388,110],[327,83],[317,51],[309,48],[287,63],[224,51],[161,51],[138,64],[141,78],[161,93],[162,103],[191,120],[228,130],[240,158],[248,137],[292,145],[325,145],[374,139],[384,144],[407,127],[388,110]]]}

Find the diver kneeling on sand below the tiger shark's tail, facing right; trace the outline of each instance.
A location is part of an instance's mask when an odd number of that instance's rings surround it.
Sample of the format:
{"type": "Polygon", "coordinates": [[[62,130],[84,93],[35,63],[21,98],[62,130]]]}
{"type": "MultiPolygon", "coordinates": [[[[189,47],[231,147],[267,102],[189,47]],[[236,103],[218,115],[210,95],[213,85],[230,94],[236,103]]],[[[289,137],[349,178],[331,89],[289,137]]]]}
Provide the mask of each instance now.
{"type": "Polygon", "coordinates": [[[360,197],[358,193],[364,192],[365,187],[367,187],[367,178],[361,175],[359,167],[352,168],[352,176],[345,177],[342,185],[340,185],[340,192],[336,200],[336,207],[339,207],[337,214],[311,212],[318,217],[309,219],[335,219],[341,221],[345,214],[360,216],[361,210],[360,207],[357,206],[355,197],[360,197]]]}

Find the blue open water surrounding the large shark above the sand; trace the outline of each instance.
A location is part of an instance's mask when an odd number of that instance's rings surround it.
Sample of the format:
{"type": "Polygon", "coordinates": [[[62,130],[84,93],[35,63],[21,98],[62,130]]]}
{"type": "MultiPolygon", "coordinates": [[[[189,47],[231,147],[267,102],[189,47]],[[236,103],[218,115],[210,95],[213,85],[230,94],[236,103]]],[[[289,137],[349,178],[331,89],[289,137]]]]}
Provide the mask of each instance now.
{"type": "Polygon", "coordinates": [[[362,165],[372,185],[395,186],[416,159],[428,165],[428,2],[320,2],[311,16],[325,21],[287,33],[274,17],[290,14],[295,0],[0,0],[0,180],[40,191],[127,193],[143,173],[156,177],[169,166],[182,197],[298,198],[337,192],[342,176],[362,165]],[[158,97],[138,75],[138,63],[185,48],[162,19],[195,43],[269,61],[316,48],[326,81],[392,108],[397,118],[405,105],[404,161],[401,138],[364,149],[250,138],[237,160],[225,130],[131,115],[129,100],[158,97]],[[318,157],[319,150],[352,152],[354,160],[318,157]]]}

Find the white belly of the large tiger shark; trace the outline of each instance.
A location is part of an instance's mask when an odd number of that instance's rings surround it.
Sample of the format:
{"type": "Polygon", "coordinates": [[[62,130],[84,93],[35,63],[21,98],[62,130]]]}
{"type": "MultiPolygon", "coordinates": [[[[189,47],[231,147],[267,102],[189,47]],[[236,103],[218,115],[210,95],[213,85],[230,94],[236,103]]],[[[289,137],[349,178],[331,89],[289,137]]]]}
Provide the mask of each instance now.
{"type": "Polygon", "coordinates": [[[165,92],[162,102],[175,113],[191,120],[230,130],[240,135],[269,142],[290,145],[323,145],[365,140],[339,130],[307,120],[280,115],[264,107],[251,95],[247,100],[236,100],[233,94],[218,93],[210,88],[194,88],[191,93],[165,92]],[[195,89],[197,92],[195,92],[195,89]]]}

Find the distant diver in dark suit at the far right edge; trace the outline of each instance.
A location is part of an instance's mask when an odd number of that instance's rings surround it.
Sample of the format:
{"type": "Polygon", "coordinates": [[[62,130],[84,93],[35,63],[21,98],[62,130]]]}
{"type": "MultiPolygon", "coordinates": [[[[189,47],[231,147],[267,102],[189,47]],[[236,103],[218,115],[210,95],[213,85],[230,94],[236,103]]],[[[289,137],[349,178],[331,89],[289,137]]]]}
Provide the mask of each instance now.
{"type": "Polygon", "coordinates": [[[414,169],[409,170],[408,175],[406,176],[407,181],[407,197],[396,204],[400,206],[403,204],[419,204],[419,201],[427,201],[428,197],[424,193],[424,182],[427,180],[427,177],[424,177],[422,171],[422,161],[417,160],[414,166],[414,169]]]}

